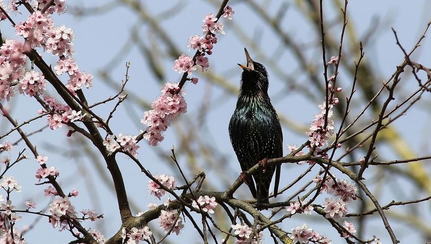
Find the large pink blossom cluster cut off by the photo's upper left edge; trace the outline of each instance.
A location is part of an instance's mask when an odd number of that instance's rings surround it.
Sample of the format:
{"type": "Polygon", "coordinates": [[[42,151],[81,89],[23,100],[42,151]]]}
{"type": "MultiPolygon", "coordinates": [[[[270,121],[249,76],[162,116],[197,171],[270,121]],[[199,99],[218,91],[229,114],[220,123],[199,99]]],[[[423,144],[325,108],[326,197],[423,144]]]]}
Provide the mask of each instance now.
{"type": "MultiPolygon", "coordinates": [[[[0,101],[4,99],[9,101],[15,96],[15,87],[11,84],[24,78],[25,49],[21,42],[12,39],[7,39],[0,47],[0,101]]],[[[35,83],[20,91],[39,92],[39,82],[35,83]]],[[[21,83],[19,86],[22,86],[21,83]]],[[[43,90],[42,88],[41,92],[43,90]]]]}

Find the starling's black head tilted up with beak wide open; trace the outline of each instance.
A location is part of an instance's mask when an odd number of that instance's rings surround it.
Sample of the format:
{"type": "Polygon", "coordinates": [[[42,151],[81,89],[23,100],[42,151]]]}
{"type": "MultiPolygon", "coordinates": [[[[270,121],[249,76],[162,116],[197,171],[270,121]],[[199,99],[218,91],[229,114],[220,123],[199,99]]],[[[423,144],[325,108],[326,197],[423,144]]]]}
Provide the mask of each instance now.
{"type": "Polygon", "coordinates": [[[241,92],[268,92],[268,73],[265,67],[251,59],[247,49],[244,48],[247,66],[238,64],[242,68],[241,92]]]}

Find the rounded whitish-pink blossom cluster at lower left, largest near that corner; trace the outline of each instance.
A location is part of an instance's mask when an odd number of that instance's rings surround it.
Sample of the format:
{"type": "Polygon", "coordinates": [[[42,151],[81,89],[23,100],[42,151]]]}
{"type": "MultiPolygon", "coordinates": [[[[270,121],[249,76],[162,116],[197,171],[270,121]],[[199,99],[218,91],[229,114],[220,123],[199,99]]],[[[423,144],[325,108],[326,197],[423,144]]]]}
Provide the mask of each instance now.
{"type": "Polygon", "coordinates": [[[54,201],[49,204],[48,212],[51,214],[51,217],[49,217],[49,222],[54,228],[57,227],[58,224],[67,225],[67,222],[65,222],[64,219],[61,219],[63,216],[69,218],[77,217],[77,212],[75,211],[75,207],[69,201],[69,197],[55,198],[54,201]]]}

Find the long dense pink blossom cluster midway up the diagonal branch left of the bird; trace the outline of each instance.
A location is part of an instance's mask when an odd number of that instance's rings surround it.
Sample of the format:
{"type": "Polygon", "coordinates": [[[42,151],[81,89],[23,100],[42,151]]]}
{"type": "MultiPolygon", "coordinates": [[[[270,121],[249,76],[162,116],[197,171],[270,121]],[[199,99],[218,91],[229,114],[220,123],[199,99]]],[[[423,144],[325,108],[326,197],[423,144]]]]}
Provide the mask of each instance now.
{"type": "Polygon", "coordinates": [[[162,133],[168,129],[170,121],[187,111],[187,103],[180,91],[178,83],[166,83],[160,95],[151,102],[151,110],[145,111],[141,123],[148,125],[144,139],[150,145],[157,145],[164,137],[162,133]]]}

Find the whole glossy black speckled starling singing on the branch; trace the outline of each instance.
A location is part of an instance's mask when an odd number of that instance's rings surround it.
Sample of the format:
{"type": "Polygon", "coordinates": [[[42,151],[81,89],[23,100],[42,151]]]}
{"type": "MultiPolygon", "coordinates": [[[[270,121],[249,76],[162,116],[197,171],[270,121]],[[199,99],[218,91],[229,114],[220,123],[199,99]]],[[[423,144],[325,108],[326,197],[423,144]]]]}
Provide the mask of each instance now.
{"type": "MultiPolygon", "coordinates": [[[[277,113],[268,96],[268,73],[265,67],[253,61],[245,49],[247,66],[242,69],[241,85],[235,112],[229,122],[229,136],[241,170],[247,171],[266,159],[280,158],[283,154],[283,133],[277,113]]],[[[280,182],[281,164],[263,165],[251,175],[241,174],[257,207],[269,203],[269,184],[275,173],[274,197],[280,182]],[[256,186],[255,186],[256,183],[256,186]]]]}

